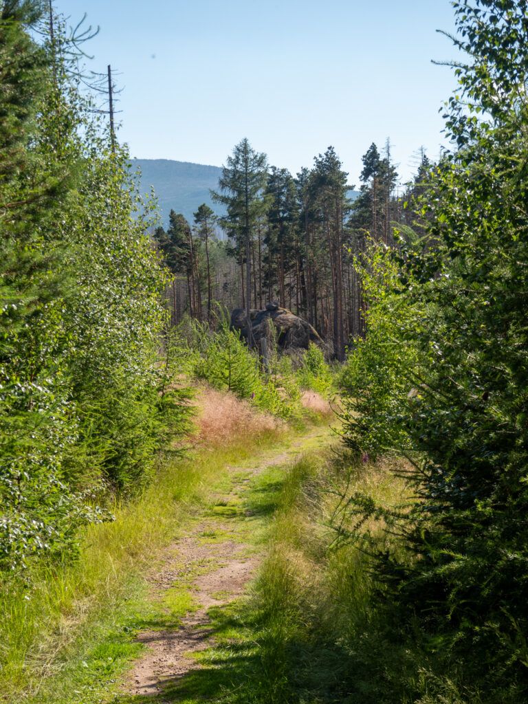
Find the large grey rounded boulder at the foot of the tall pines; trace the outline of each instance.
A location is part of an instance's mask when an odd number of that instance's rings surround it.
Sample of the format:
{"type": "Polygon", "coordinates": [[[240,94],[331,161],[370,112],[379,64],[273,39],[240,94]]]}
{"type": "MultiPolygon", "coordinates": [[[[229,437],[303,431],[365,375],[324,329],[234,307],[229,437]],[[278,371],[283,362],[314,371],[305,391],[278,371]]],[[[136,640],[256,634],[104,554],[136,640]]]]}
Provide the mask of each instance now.
{"type": "MultiPolygon", "coordinates": [[[[269,336],[270,322],[275,327],[278,346],[287,350],[294,347],[308,349],[310,342],[322,343],[317,330],[309,322],[291,313],[287,308],[279,308],[277,303],[268,303],[264,310],[251,310],[251,333],[256,344],[269,336]]],[[[235,308],[231,313],[231,327],[239,330],[247,339],[248,326],[244,308],[235,308]]]]}

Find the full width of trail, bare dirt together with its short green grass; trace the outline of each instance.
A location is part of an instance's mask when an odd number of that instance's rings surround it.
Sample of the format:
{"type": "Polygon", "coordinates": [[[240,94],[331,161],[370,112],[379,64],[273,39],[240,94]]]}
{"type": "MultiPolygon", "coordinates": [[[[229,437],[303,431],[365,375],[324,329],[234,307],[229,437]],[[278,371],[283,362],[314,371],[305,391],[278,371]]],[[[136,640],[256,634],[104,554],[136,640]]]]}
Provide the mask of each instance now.
{"type": "Polygon", "coordinates": [[[237,633],[232,608],[244,600],[265,554],[285,465],[304,453],[320,451],[330,438],[329,427],[311,429],[287,449],[283,446],[229,467],[222,481],[211,487],[206,505],[147,577],[155,608],[135,635],[142,655],[118,691],[114,689],[113,698],[105,701],[190,704],[224,700],[221,691],[226,701],[231,700],[227,690],[241,686],[240,653],[231,647],[226,657],[225,645],[244,640],[237,633]]]}

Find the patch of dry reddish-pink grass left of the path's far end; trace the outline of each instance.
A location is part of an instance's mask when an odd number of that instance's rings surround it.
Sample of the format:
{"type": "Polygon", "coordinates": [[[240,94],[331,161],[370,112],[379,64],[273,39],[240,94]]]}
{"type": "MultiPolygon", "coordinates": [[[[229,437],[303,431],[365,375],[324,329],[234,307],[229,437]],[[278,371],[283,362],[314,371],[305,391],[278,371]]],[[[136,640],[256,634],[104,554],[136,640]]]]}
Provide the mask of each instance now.
{"type": "Polygon", "coordinates": [[[242,436],[253,442],[287,429],[284,421],[253,408],[234,394],[209,386],[200,387],[195,405],[196,432],[191,440],[199,446],[226,446],[233,438],[242,436]]]}

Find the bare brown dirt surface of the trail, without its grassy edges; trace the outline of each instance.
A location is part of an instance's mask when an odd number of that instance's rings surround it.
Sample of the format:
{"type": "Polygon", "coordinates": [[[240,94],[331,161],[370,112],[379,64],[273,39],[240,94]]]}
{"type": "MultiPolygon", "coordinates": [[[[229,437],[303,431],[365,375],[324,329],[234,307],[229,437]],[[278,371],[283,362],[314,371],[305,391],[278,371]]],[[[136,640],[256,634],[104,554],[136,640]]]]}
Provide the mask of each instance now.
{"type": "Polygon", "coordinates": [[[185,537],[168,548],[163,568],[149,577],[152,598],[163,601],[171,590],[188,590],[191,608],[179,627],[139,634],[138,640],[148,650],[130,674],[129,695],[158,696],[164,683],[200,667],[193,654],[213,644],[208,610],[240,596],[260,560],[249,541],[248,532],[255,527],[244,501],[251,479],[272,465],[291,462],[327,437],[327,429],[316,429],[287,451],[265,455],[258,465],[231,467],[227,493],[213,492],[211,504],[196,517],[185,537]]]}

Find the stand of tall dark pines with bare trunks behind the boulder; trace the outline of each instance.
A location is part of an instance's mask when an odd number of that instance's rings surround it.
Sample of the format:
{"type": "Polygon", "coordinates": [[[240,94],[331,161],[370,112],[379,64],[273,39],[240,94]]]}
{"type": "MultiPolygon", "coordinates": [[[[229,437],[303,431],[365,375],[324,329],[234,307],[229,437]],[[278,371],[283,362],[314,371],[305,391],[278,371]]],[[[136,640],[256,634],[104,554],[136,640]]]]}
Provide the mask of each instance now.
{"type": "Polygon", "coordinates": [[[394,246],[395,227],[414,222],[404,206],[430,166],[422,152],[415,181],[400,194],[389,142],[381,154],[372,144],[352,200],[333,147],[294,177],[269,167],[243,139],[213,194],[227,214],[219,218],[204,204],[189,223],[171,211],[168,230],[154,233],[175,277],[168,290],[172,322],[186,313],[210,321],[215,301],[231,309],[277,301],[306,318],[343,359],[346,346],[365,333],[356,259],[368,238],[394,246]],[[219,228],[227,239],[218,238],[219,228]]]}

